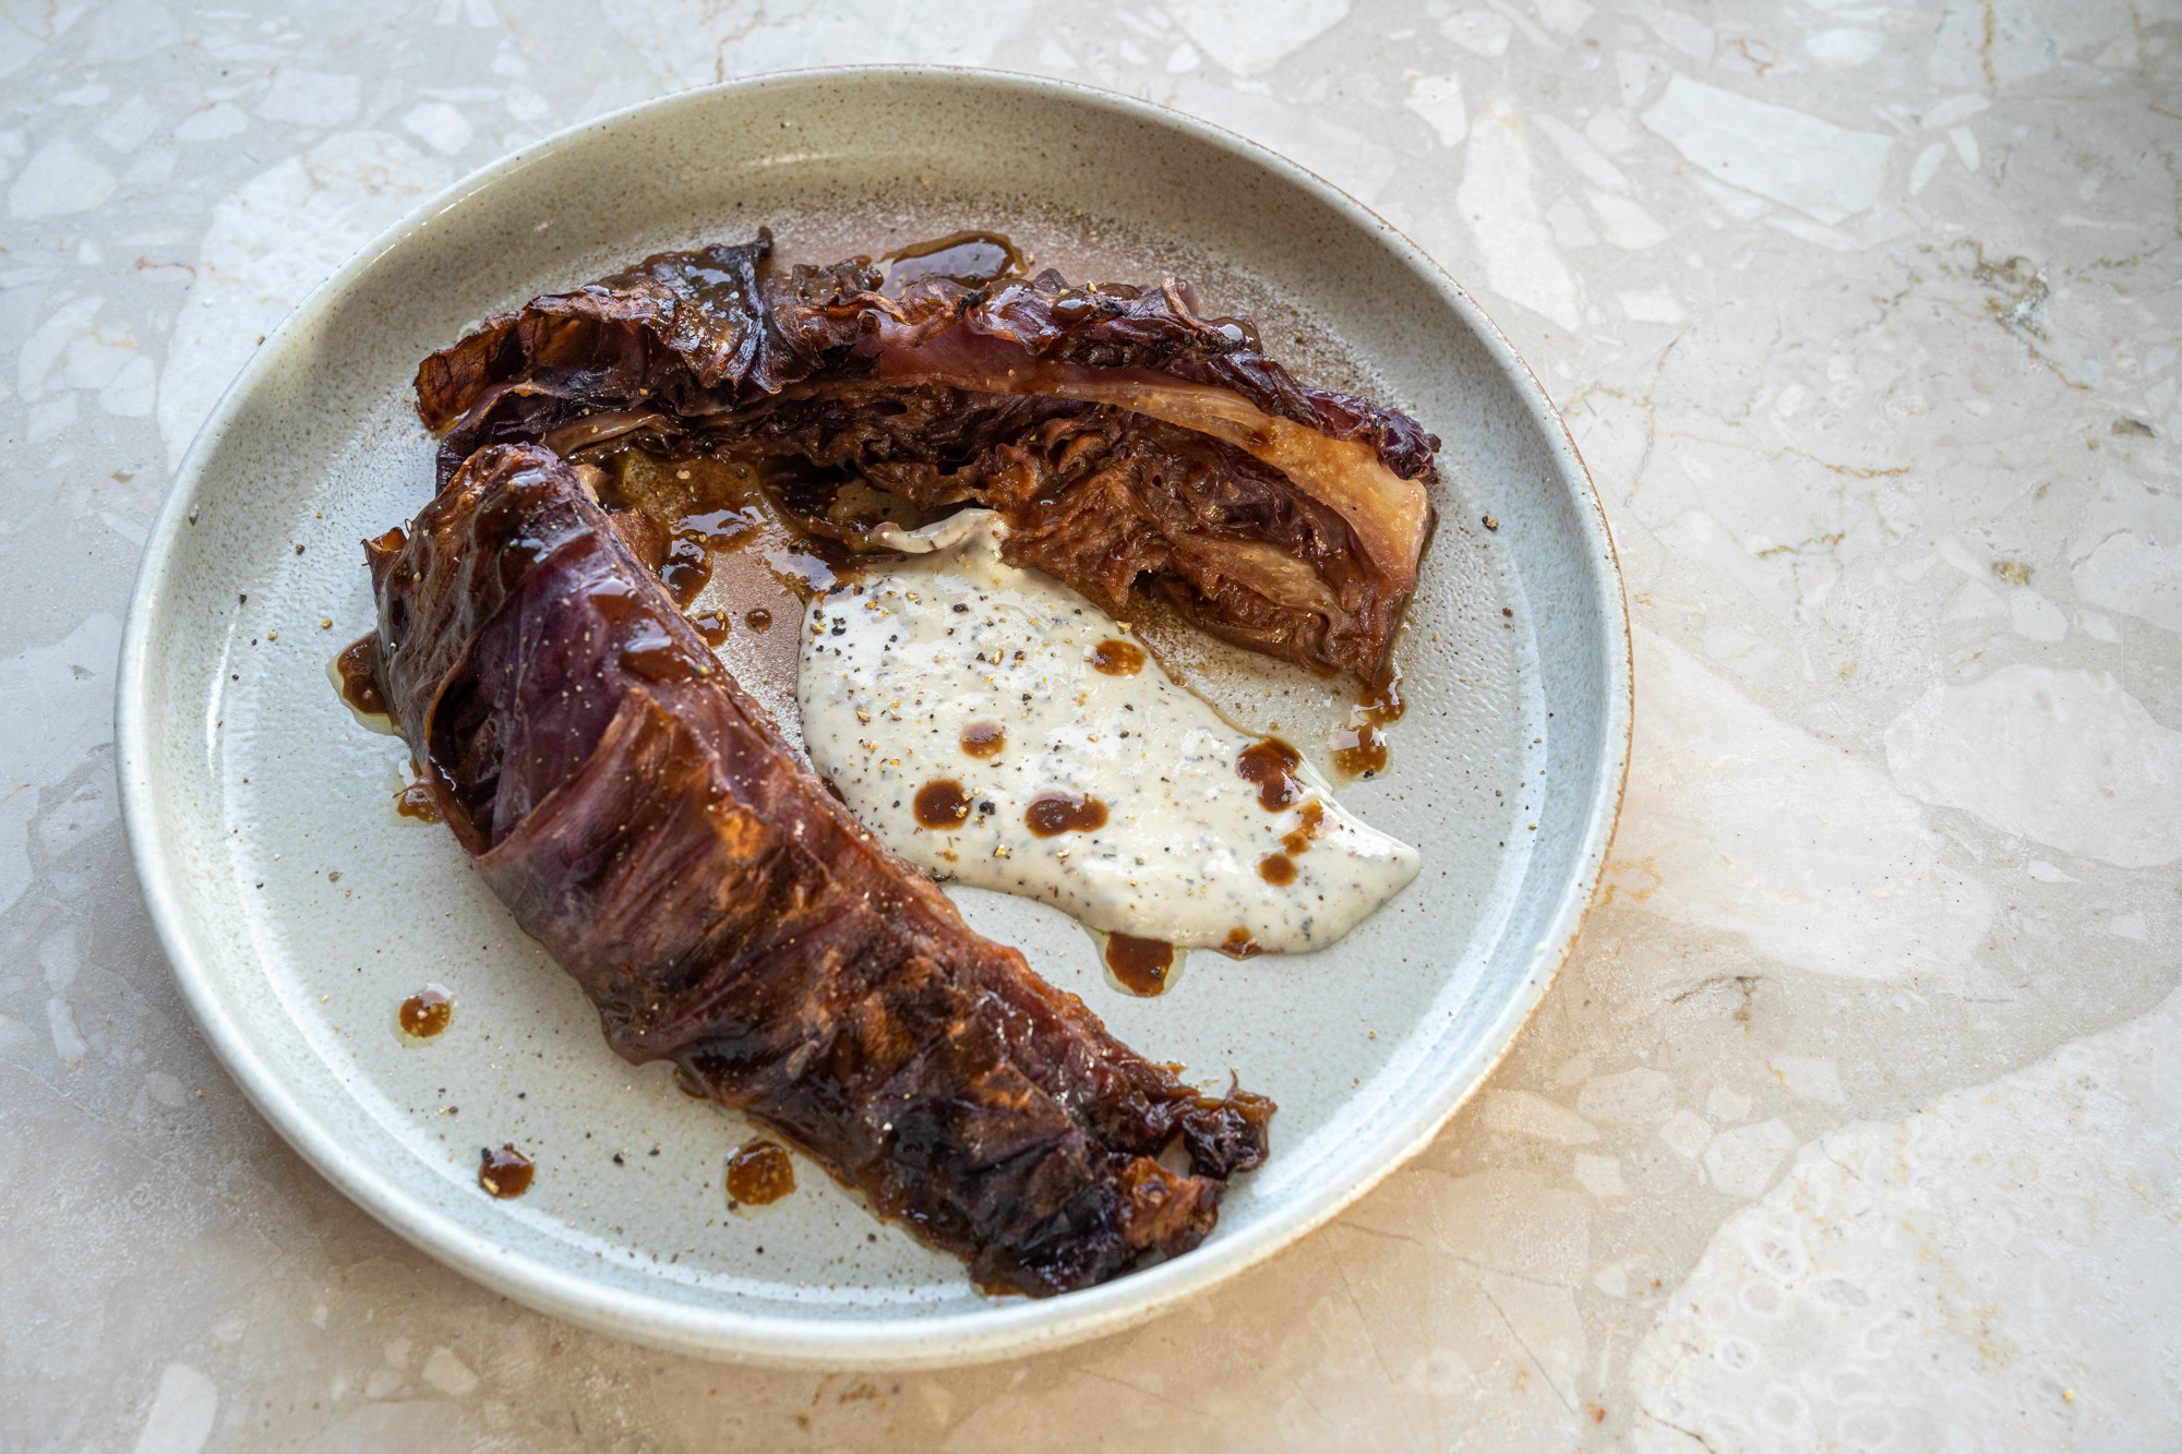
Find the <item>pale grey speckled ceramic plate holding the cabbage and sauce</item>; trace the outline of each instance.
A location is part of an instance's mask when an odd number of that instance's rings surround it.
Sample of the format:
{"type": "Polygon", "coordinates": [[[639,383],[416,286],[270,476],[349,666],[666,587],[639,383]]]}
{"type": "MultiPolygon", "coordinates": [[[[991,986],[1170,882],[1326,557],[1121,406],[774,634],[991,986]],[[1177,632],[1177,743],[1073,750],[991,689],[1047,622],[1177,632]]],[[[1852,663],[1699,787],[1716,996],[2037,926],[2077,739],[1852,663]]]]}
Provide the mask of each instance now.
{"type": "MultiPolygon", "coordinates": [[[[1191,679],[1324,760],[1318,679],[1167,637],[1191,679]]],[[[1318,1227],[1418,1151],[1536,1009],[1621,797],[1630,666],[1612,548],[1551,402],[1423,253],[1309,172],[1150,105],[1019,76],[834,70],[609,116],[456,186],[273,334],[185,458],[137,581],[120,777],[190,1004],[264,1116],[388,1227],[591,1327],[766,1362],[906,1367],[1148,1319],[1318,1227]],[[1340,945],[1191,956],[1135,1000],[1087,934],[962,893],[1132,1046],[1281,1103],[1268,1166],[1187,1258],[1050,1301],[991,1299],[818,1168],[731,1212],[744,1127],[618,1061],[576,987],[397,819],[406,753],[334,696],[371,624],[358,539],[408,517],[432,441],[417,360],[465,323],[663,247],[770,223],[788,260],[1002,225],[1071,275],[1194,275],[1276,354],[1444,439],[1440,535],[1399,648],[1392,771],[1342,792],[1423,875],[1340,945]],[[1294,345],[1287,341],[1294,338],[1294,345]],[[1497,531],[1482,526],[1495,517],[1497,531]],[[332,622],[332,624],[323,624],[332,622]],[[452,1028],[406,1044],[428,982],[452,1028]],[[478,1148],[537,1161],[519,1201],[478,1148]]]]}

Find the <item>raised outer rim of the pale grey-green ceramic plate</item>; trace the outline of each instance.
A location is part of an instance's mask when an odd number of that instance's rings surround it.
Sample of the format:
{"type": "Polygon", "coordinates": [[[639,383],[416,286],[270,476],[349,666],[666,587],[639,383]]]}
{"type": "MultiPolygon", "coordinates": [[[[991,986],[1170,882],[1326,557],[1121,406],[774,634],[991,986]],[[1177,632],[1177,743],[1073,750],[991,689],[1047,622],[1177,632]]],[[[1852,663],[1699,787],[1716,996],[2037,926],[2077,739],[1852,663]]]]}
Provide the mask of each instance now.
{"type": "MultiPolygon", "coordinates": [[[[670,109],[681,105],[703,105],[705,98],[727,92],[764,92],[768,87],[801,87],[827,83],[892,81],[934,87],[969,87],[991,92],[1034,94],[1043,100],[1063,98],[1069,105],[1087,105],[1106,111],[1122,111],[1152,127],[1180,131],[1198,142],[1207,142],[1228,153],[1246,166],[1268,170],[1335,212],[1346,214],[1366,231],[1379,236],[1396,258],[1436,284],[1449,306],[1471,325],[1492,362],[1510,380],[1532,421],[1540,428],[1549,456],[1560,467],[1560,482],[1573,491],[1578,531],[1586,546],[1588,585],[1597,598],[1599,627],[1606,637],[1606,703],[1602,714],[1602,771],[1593,777],[1584,814],[1586,825],[1580,841],[1578,871],[1562,884],[1560,897],[1547,917],[1547,928],[1532,950],[1525,982],[1495,1015],[1490,1033],[1479,1039],[1473,1068],[1462,1072],[1460,1085],[1444,1094],[1444,1103],[1431,1098],[1399,1120],[1388,1131],[1388,1148],[1366,1172],[1348,1185],[1329,1185],[1296,1196],[1255,1227],[1233,1238],[1215,1240],[1156,1268],[1146,1268],[1128,1277],[1069,1292],[1056,1299],[1010,1299],[969,1312],[951,1312],[923,1319],[858,1319],[818,1321],[753,1314],[729,1308],[700,1308],[674,1303],[642,1292],[618,1290],[611,1284],[556,1271],[548,1264],[519,1258],[489,1236],[473,1231],[452,1216],[412,1201],[393,1181],[349,1153],[343,1140],[321,1124],[262,1061],[227,1013],[214,976],[207,972],[185,930],[185,893],[168,871],[166,845],[159,836],[155,810],[155,779],[148,751],[151,699],[151,637],[157,624],[159,596],[168,583],[170,557],[181,537],[185,515],[203,489],[205,461],[214,443],[225,434],[240,400],[257,389],[275,367],[279,349],[260,347],[251,360],[220,393],[220,400],[205,415],[190,448],[175,465],[172,482],[159,506],[144,552],[137,561],[135,583],[129,596],[129,616],[122,629],[122,648],[116,675],[113,744],[116,779],[120,797],[122,827],[129,841],[131,862],[144,893],[159,948],[172,967],[183,1002],[190,1006],[201,1033],[220,1059],[227,1074],[251,1100],[260,1116],[281,1135],[281,1140],[338,1188],[349,1201],[369,1212],[380,1225],[404,1238],[425,1255],[454,1266],[463,1275],[502,1292],[524,1306],[565,1316],[585,1327],[631,1338],[650,1347],[672,1349],[731,1362],[757,1362],[770,1367],[858,1367],[858,1369],[923,1369],[986,1362],[995,1358],[1017,1358],[1034,1351],[1056,1349],[1093,1336],[1115,1334],[1161,1316],[1189,1297],[1224,1284],[1248,1268],[1261,1266],[1281,1251],[1294,1247],[1311,1231],[1324,1227],[1351,1205],[1362,1201],[1372,1188],[1383,1183],[1401,1166],[1412,1161],[1453,1116],[1492,1076],[1492,1070],[1508,1057],[1523,1026],[1538,1013],[1547,989],[1560,976],[1582,934],[1584,919],[1597,897],[1599,880],[1606,871],[1608,849],[1628,786],[1630,734],[1634,725],[1634,662],[1628,620],[1628,598],[1621,579],[1619,555],[1606,522],[1591,472],[1575,448],[1567,421],[1554,406],[1551,395],[1527,362],[1514,351],[1508,336],[1486,317],[1484,308],[1468,290],[1447,273],[1425,249],[1412,242],[1401,229],[1381,218],[1368,205],[1348,196],[1324,177],[1296,164],[1281,153],[1237,135],[1215,122],[1176,111],[1150,100],[1084,85],[1078,81],[1056,81],[1023,72],[967,65],[823,65],[799,70],[775,70],[755,76],[740,76],[705,87],[652,96],[615,111],[563,127],[528,146],[511,151],[495,162],[456,179],[445,190],[412,207],[382,234],[356,249],[316,288],[312,288],[281,323],[266,336],[266,345],[286,341],[292,332],[308,327],[338,297],[388,251],[404,245],[417,231],[432,227],[445,214],[465,205],[471,196],[500,183],[508,175],[530,166],[543,155],[559,151],[589,133],[620,124],[624,118],[670,109]]],[[[1453,1078],[1453,1076],[1451,1076],[1453,1078]]]]}

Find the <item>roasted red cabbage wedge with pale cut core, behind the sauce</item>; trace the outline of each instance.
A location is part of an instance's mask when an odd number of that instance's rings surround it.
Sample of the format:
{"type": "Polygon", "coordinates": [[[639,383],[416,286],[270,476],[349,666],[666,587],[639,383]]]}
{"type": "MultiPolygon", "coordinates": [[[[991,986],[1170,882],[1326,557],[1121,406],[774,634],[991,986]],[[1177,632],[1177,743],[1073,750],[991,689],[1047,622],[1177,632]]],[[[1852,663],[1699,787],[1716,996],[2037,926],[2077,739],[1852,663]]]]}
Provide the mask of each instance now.
{"type": "Polygon", "coordinates": [[[1390,677],[1434,528],[1440,441],[1414,419],[1296,382],[1172,277],[903,282],[770,249],[661,253],[430,356],[441,478],[513,441],[799,461],[997,509],[1012,563],[1113,611],[1152,589],[1244,646],[1390,677]]]}

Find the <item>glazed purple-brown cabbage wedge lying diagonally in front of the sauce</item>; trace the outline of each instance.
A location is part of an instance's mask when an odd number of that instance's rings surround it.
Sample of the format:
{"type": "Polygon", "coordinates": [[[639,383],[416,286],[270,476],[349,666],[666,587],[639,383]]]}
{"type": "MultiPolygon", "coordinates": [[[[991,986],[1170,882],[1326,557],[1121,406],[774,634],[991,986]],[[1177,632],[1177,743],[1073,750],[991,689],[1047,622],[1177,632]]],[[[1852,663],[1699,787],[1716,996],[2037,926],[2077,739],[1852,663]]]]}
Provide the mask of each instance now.
{"type": "Polygon", "coordinates": [[[432,797],[607,1041],[792,1140],[988,1288],[1196,1247],[1272,1103],[1119,1044],[840,808],[543,448],[367,546],[432,797]],[[1163,1168],[1172,1142],[1191,1172],[1163,1168]]]}

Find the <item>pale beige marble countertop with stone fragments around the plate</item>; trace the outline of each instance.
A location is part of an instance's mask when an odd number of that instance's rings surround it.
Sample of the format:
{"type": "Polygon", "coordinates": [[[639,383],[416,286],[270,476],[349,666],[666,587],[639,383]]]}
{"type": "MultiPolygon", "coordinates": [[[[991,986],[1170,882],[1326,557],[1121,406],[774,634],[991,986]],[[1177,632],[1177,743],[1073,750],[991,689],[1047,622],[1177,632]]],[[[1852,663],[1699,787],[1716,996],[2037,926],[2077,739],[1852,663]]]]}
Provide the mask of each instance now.
{"type": "Polygon", "coordinates": [[[0,1447],[2175,1447],[2175,41],[2178,0],[11,7],[0,1447]],[[1141,1332],[886,1378],[554,1323],[325,1185],[183,1009],[109,725],[170,467],[349,249],[831,61],[1130,92],[1381,210],[1567,410],[1636,624],[1602,902],[1438,1142],[1141,1332]]]}

